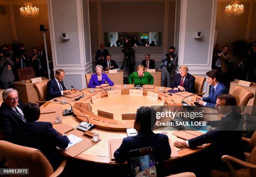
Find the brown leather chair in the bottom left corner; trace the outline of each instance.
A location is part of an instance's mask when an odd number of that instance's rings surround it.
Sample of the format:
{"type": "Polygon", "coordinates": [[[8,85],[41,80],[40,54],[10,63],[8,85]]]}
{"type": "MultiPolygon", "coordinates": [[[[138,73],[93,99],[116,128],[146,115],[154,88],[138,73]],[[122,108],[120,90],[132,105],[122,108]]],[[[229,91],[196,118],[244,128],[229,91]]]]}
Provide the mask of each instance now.
{"type": "Polygon", "coordinates": [[[0,154],[5,157],[9,168],[29,168],[29,175],[26,176],[32,177],[57,177],[67,164],[67,160],[63,160],[54,172],[49,160],[38,149],[2,140],[0,141],[0,154]]]}

